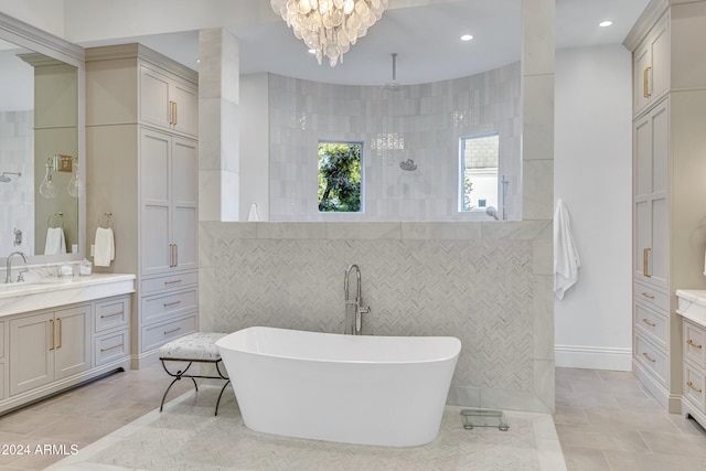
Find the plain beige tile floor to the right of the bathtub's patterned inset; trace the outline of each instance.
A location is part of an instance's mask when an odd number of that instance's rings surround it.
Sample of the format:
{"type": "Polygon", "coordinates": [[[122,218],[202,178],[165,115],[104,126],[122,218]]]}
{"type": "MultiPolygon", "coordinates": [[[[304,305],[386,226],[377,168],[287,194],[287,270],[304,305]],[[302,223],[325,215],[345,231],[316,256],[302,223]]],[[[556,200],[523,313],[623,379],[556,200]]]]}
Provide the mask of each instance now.
{"type": "Polygon", "coordinates": [[[632,373],[557,368],[554,422],[569,471],[706,470],[706,431],[632,373]]]}

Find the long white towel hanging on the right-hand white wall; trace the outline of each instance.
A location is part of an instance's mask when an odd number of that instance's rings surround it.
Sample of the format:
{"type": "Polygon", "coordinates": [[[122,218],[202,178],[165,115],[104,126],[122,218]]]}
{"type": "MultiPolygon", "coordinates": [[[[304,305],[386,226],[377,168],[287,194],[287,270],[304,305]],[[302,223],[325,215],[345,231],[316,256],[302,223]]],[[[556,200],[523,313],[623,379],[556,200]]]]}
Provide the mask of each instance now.
{"type": "Polygon", "coordinates": [[[571,235],[569,213],[561,200],[556,203],[554,214],[554,296],[564,299],[564,293],[578,281],[581,260],[571,235]]]}

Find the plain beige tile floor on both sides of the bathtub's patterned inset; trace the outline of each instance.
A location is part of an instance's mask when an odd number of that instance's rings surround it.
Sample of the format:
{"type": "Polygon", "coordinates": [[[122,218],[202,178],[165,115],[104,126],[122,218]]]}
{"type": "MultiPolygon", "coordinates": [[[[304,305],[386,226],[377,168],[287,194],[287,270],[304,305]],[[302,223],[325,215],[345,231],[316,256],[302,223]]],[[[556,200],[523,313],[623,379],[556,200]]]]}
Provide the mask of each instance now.
{"type": "MultiPolygon", "coordinates": [[[[154,410],[169,378],[160,365],[108,376],[0,417],[0,470],[41,470],[154,410]],[[53,446],[38,453],[36,446],[53,446]],[[1,450],[0,450],[1,451],[1,450]]],[[[174,385],[169,398],[191,390],[174,385]]],[[[555,424],[569,471],[706,469],[706,432],[667,414],[631,373],[557,368],[555,424]]]]}

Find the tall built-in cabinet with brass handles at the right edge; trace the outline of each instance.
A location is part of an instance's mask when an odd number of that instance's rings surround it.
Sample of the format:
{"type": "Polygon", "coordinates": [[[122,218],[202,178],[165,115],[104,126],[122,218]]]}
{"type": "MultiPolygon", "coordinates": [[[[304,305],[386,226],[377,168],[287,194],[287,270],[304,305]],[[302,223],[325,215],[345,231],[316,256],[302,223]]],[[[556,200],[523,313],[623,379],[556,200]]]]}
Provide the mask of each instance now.
{"type": "Polygon", "coordinates": [[[652,0],[633,52],[633,372],[670,413],[684,392],[677,288],[706,287],[706,1],[652,0]]]}

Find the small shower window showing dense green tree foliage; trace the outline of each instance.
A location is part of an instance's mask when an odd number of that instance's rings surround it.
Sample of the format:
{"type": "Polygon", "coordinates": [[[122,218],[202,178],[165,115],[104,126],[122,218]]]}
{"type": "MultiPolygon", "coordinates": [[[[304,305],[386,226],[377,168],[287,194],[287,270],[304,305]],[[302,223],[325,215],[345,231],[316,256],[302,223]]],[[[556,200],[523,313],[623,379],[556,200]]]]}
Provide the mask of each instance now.
{"type": "Polygon", "coordinates": [[[363,142],[319,142],[319,211],[361,211],[363,142]]]}

